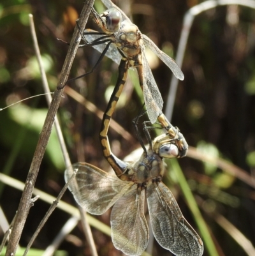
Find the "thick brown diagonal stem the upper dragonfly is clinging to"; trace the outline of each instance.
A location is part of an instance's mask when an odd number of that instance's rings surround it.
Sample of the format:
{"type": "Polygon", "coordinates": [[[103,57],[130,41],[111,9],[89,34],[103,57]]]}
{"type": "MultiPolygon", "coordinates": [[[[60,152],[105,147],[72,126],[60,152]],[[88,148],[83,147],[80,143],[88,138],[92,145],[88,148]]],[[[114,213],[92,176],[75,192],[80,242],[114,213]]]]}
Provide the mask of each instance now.
{"type": "MultiPolygon", "coordinates": [[[[89,18],[89,13],[91,12],[91,6],[93,6],[93,3],[94,3],[94,0],[88,0],[87,3],[84,4],[84,8],[82,10],[82,13],[80,15],[80,20],[79,20],[80,28],[82,30],[85,29],[85,24],[87,23],[87,19],[89,18]]],[[[64,85],[66,84],[66,81],[68,80],[71,64],[73,63],[73,59],[75,58],[75,54],[77,52],[79,43],[80,43],[80,33],[76,28],[70,43],[70,47],[68,49],[68,54],[64,61],[64,65],[61,71],[61,76],[59,79],[59,84],[57,85],[57,88],[59,89],[57,89],[53,95],[52,102],[50,103],[50,108],[48,110],[45,123],[43,124],[43,128],[40,133],[40,138],[38,140],[36,150],[34,152],[31,167],[29,169],[29,173],[27,174],[24,192],[22,193],[22,197],[20,199],[17,216],[15,218],[15,222],[13,223],[13,229],[10,235],[10,241],[8,243],[7,250],[6,250],[7,256],[12,256],[12,255],[15,255],[16,253],[18,242],[20,240],[20,236],[22,234],[22,230],[25,225],[25,220],[27,218],[29,209],[31,207],[31,196],[33,193],[34,183],[36,182],[36,177],[39,172],[41,160],[45,153],[45,149],[48,144],[48,139],[52,131],[52,125],[54,124],[55,114],[57,113],[57,109],[61,101],[61,95],[63,91],[63,89],[61,88],[64,87],[64,85]]]]}

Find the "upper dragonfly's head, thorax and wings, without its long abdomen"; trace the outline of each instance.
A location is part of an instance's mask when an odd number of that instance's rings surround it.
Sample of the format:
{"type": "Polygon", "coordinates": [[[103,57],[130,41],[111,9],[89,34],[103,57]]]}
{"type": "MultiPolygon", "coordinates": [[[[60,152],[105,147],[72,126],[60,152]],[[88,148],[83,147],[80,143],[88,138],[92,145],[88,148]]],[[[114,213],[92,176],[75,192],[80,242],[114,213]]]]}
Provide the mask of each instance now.
{"type": "Polygon", "coordinates": [[[125,59],[128,61],[128,68],[136,68],[150,122],[155,123],[162,114],[163,99],[146,59],[145,47],[149,47],[171,69],[175,77],[183,80],[184,74],[177,63],[159,50],[148,36],[142,34],[122,10],[111,1],[103,0],[103,3],[110,9],[101,15],[94,8],[91,11],[103,32],[86,29],[83,33],[84,45],[81,46],[92,46],[102,52],[98,63],[103,56],[107,56],[117,64],[125,59]]]}

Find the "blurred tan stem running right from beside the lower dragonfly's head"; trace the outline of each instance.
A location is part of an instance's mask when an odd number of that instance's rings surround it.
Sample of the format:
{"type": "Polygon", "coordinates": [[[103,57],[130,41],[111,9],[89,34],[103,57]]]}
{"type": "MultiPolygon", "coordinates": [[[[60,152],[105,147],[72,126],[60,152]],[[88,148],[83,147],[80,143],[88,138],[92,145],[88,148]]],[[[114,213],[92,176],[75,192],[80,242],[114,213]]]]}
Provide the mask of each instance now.
{"type": "Polygon", "coordinates": [[[247,174],[247,172],[245,172],[245,170],[237,167],[236,165],[233,165],[233,163],[230,163],[221,158],[215,158],[212,156],[208,156],[208,154],[204,154],[204,153],[198,151],[195,147],[191,147],[191,146],[189,146],[189,151],[187,152],[187,156],[194,158],[194,159],[198,159],[198,160],[206,162],[206,163],[212,163],[213,165],[224,170],[225,172],[228,172],[229,174],[240,179],[241,181],[244,181],[244,183],[249,184],[252,188],[255,188],[254,177],[247,174]]]}

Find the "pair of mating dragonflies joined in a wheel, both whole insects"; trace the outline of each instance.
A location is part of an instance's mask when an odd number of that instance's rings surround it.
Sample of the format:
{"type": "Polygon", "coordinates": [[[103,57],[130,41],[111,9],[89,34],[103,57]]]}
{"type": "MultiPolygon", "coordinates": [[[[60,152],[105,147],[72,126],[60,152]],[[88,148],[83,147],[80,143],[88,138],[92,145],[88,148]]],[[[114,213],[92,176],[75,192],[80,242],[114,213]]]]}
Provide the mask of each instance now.
{"type": "Polygon", "coordinates": [[[102,52],[98,63],[106,55],[119,64],[119,76],[100,132],[103,154],[116,175],[108,174],[89,163],[75,163],[65,172],[66,181],[71,178],[73,171],[77,172],[69,184],[69,190],[78,204],[91,214],[101,215],[114,205],[111,214],[113,245],[127,255],[141,255],[149,242],[149,229],[143,213],[146,194],[152,231],[159,245],[175,255],[200,256],[203,254],[201,238],[187,223],[170,190],[161,182],[164,174],[163,158],[185,156],[187,142],[178,128],[173,127],[162,113],[163,100],[145,57],[144,47],[153,50],[176,77],[184,79],[184,76],[175,61],[140,33],[138,27],[117,6],[109,0],[102,1],[111,9],[99,15],[92,8],[92,15],[103,32],[85,30],[82,33],[84,45],[81,46],[92,46],[102,52]],[[166,130],[152,140],[146,123],[143,123],[149,142],[147,149],[139,135],[136,119],[136,134],[143,154],[134,163],[117,158],[110,149],[107,136],[110,119],[130,67],[138,71],[150,123],[158,119],[161,128],[166,130]]]}

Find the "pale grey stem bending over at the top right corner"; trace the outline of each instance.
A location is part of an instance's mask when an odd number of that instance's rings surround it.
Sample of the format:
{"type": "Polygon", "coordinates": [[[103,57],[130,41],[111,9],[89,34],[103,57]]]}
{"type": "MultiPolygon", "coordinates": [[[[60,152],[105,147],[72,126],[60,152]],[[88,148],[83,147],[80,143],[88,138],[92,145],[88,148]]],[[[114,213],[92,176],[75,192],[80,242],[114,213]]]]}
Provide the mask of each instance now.
{"type": "MultiPolygon", "coordinates": [[[[187,40],[189,38],[189,31],[191,30],[191,26],[193,25],[194,18],[202,13],[203,11],[210,10],[220,5],[229,5],[229,4],[238,4],[241,6],[246,6],[252,9],[255,9],[255,1],[254,0],[209,0],[197,4],[193,8],[189,9],[185,16],[182,25],[182,33],[180,35],[179,46],[177,50],[177,55],[175,58],[176,63],[182,68],[182,62],[184,59],[184,53],[186,50],[187,40]]],[[[173,105],[175,103],[175,96],[177,92],[179,80],[172,75],[170,82],[170,90],[168,93],[168,100],[166,102],[166,118],[171,122],[171,116],[173,114],[173,105]]]]}

